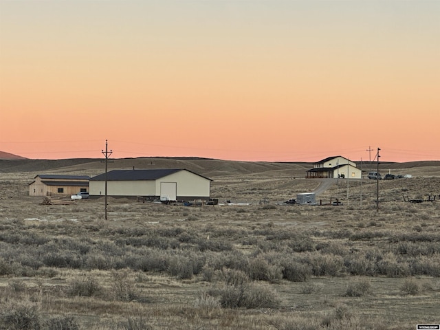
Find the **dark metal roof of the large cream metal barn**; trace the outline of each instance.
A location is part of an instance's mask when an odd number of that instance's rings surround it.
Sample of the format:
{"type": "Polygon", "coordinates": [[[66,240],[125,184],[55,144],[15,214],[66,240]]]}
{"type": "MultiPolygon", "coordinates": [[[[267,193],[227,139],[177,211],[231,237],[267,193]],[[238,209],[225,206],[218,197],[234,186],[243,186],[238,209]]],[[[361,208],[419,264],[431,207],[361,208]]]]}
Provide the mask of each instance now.
{"type": "MultiPolygon", "coordinates": [[[[149,169],[149,170],[111,170],[107,172],[107,181],[135,181],[135,180],[156,180],[161,177],[166,177],[173,173],[177,173],[181,170],[186,170],[185,168],[167,168],[167,169],[149,169]]],[[[199,175],[190,170],[190,173],[199,175]]],[[[199,175],[199,177],[203,177],[199,175]]],[[[203,177],[208,179],[208,177],[203,177]]],[[[105,173],[92,177],[90,181],[104,181],[105,173]]],[[[212,181],[211,179],[208,179],[212,181]]]]}

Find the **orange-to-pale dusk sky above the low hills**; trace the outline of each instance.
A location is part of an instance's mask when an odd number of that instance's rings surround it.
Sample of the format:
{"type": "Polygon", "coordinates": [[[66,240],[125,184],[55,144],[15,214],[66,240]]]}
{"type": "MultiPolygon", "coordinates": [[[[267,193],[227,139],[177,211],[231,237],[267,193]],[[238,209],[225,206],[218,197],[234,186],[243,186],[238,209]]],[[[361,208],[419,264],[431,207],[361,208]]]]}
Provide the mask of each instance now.
{"type": "Polygon", "coordinates": [[[0,151],[439,160],[440,1],[0,0],[0,151]]]}

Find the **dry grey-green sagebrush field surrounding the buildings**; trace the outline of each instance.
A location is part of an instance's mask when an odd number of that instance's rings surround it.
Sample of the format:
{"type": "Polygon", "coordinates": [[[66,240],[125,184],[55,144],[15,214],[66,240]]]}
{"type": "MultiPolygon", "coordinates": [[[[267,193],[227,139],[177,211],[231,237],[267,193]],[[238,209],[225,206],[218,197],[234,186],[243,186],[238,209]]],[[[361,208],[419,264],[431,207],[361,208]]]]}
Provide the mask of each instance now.
{"type": "MultiPolygon", "coordinates": [[[[113,168],[133,162],[142,168],[130,159],[113,168]]],[[[3,165],[0,173],[0,329],[440,323],[438,163],[383,167],[412,178],[380,181],[377,211],[376,181],[366,179],[333,179],[317,197],[342,206],[283,203],[320,186],[304,178],[310,164],[155,159],[158,168],[190,168],[214,179],[211,195],[220,202],[249,205],[109,197],[108,220],[103,198],[41,205],[43,197],[28,197],[36,174],[102,173],[100,162],[51,166],[3,165]],[[404,196],[436,200],[408,203],[404,196]]]]}

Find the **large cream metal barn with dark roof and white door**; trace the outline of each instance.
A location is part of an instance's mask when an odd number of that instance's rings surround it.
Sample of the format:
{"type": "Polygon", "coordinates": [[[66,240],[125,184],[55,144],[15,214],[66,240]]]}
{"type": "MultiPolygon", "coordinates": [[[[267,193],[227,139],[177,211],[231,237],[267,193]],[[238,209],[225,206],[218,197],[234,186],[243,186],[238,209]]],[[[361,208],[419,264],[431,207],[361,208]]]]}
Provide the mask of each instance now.
{"type": "MultiPolygon", "coordinates": [[[[106,174],[92,177],[89,194],[105,195],[106,174]]],[[[169,201],[209,199],[212,179],[186,169],[111,170],[107,173],[107,196],[144,197],[169,201]]]]}

